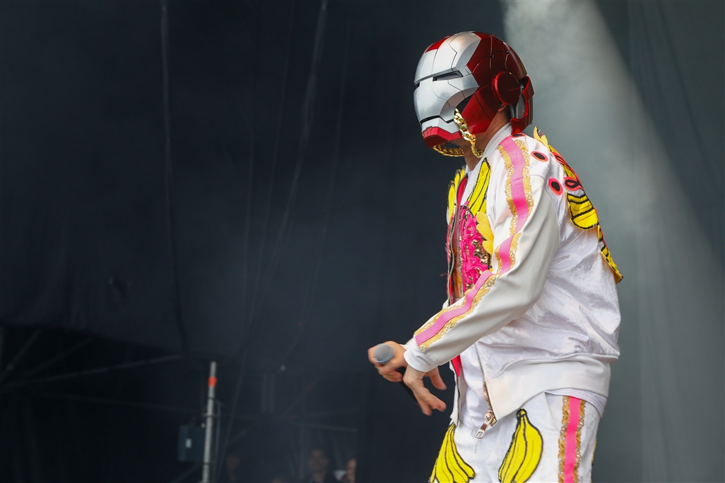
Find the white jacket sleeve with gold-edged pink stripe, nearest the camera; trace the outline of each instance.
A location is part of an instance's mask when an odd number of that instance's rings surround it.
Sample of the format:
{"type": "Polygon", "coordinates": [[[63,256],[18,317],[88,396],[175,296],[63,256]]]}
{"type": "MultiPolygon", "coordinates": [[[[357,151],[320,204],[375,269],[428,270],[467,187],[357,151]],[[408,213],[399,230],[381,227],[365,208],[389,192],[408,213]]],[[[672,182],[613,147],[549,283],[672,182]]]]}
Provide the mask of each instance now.
{"type": "Polygon", "coordinates": [[[529,176],[524,156],[502,154],[506,180],[496,197],[506,199],[503,209],[496,209],[502,215],[493,220],[495,269],[483,272],[463,298],[415,332],[405,345],[405,360],[413,369],[430,371],[447,363],[525,314],[542,293],[560,243],[556,212],[544,179],[529,176]]]}

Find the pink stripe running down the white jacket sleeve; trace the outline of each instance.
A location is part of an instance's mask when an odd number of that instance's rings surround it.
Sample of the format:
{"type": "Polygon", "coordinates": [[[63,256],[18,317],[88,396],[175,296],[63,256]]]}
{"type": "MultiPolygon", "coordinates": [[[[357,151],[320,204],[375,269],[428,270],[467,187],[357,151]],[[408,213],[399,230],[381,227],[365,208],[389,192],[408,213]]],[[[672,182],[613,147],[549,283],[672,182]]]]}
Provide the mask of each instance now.
{"type": "MultiPolygon", "coordinates": [[[[526,203],[526,190],[523,188],[523,167],[526,166],[526,160],[523,159],[521,148],[518,147],[512,138],[505,138],[505,140],[501,142],[501,146],[503,146],[510,157],[513,167],[513,173],[510,180],[511,198],[513,198],[514,206],[518,212],[518,219],[516,220],[514,232],[515,235],[516,233],[521,232],[523,224],[526,223],[526,219],[529,218],[529,205],[526,203]]],[[[501,266],[498,272],[499,274],[505,274],[505,272],[508,272],[511,269],[510,250],[512,241],[513,236],[510,236],[509,238],[506,238],[499,247],[499,256],[501,259],[501,266]]],[[[493,273],[490,270],[486,270],[486,272],[482,273],[479,280],[476,280],[473,287],[466,291],[463,304],[456,308],[444,311],[438,317],[436,322],[415,336],[415,343],[421,345],[426,342],[426,340],[434,337],[434,335],[436,335],[445,326],[445,324],[450,322],[452,319],[469,311],[476,293],[479,292],[479,289],[484,286],[486,280],[489,280],[492,274],[493,273]]]]}

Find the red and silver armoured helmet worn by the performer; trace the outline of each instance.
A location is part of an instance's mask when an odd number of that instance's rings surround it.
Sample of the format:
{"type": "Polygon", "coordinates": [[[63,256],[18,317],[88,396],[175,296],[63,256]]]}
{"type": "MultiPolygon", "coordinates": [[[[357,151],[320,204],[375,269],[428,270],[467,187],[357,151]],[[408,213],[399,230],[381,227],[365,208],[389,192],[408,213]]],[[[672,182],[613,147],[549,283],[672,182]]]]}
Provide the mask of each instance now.
{"type": "Polygon", "coordinates": [[[521,59],[487,33],[462,32],[437,41],[415,70],[415,114],[428,148],[461,137],[456,109],[476,135],[488,129],[500,106],[510,106],[513,133],[520,133],[531,124],[533,96],[521,59]]]}

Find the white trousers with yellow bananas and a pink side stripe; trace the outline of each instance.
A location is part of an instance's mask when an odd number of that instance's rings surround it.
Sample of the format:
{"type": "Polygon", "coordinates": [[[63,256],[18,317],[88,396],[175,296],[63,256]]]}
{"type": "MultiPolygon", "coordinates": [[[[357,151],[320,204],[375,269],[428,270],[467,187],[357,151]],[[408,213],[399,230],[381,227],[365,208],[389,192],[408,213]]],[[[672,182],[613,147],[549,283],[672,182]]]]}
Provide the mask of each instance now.
{"type": "Polygon", "coordinates": [[[591,482],[599,420],[584,400],[541,393],[481,439],[477,429],[451,426],[430,481],[591,482]]]}

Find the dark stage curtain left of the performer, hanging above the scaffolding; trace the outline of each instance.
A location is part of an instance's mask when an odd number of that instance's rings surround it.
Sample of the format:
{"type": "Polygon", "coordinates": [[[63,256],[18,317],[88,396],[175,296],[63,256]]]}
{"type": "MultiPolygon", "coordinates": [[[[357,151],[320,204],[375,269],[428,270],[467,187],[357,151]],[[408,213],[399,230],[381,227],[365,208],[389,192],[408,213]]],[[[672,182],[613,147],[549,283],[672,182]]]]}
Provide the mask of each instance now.
{"type": "Polygon", "coordinates": [[[2,320],[180,349],[170,238],[194,353],[246,328],[279,359],[305,322],[298,361],[359,369],[378,321],[439,307],[457,162],[418,142],[413,72],[452,30],[502,36],[500,9],[326,10],[311,76],[319,3],[170,4],[170,237],[159,4],[4,4],[2,320]]]}

